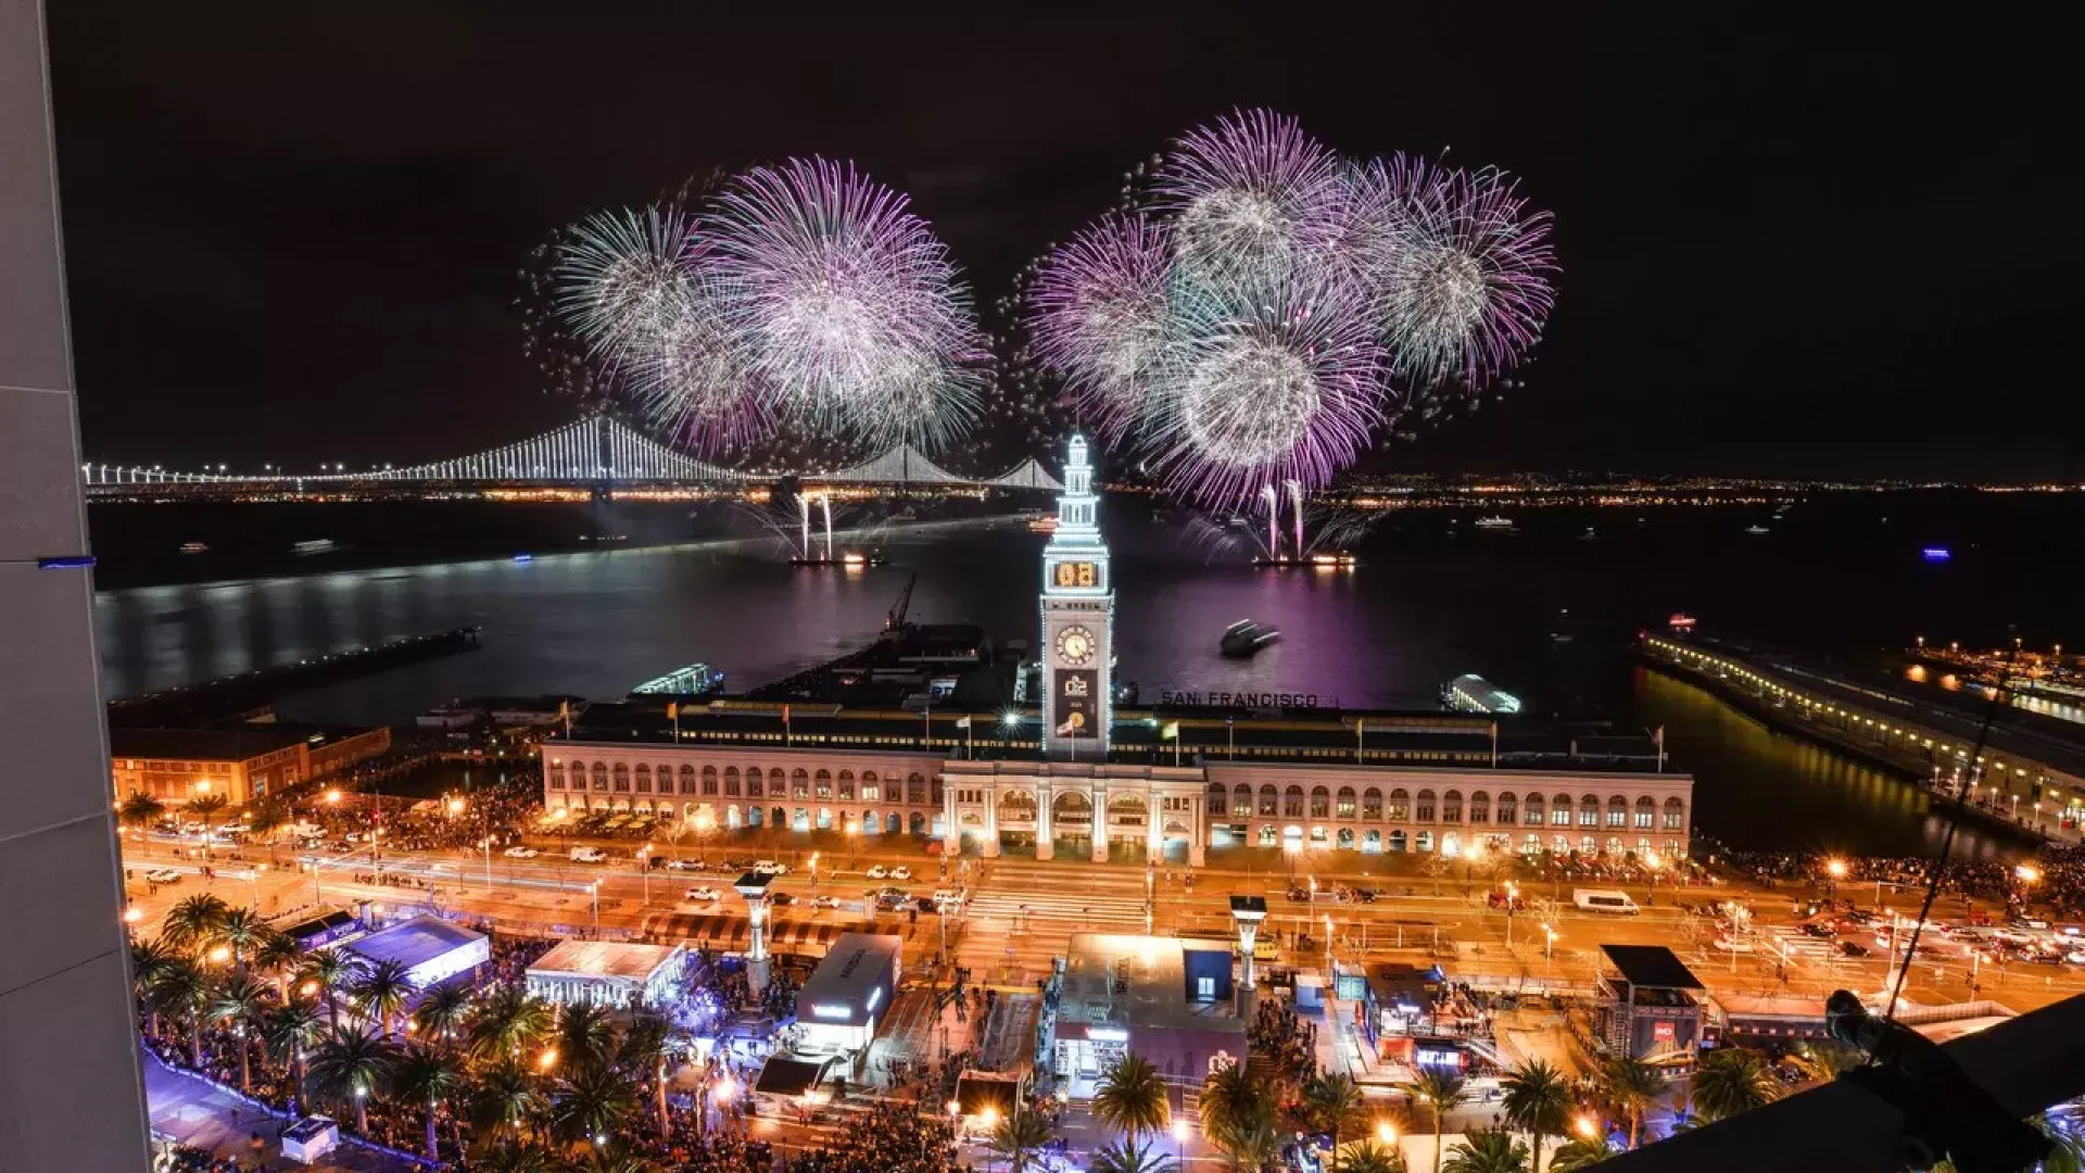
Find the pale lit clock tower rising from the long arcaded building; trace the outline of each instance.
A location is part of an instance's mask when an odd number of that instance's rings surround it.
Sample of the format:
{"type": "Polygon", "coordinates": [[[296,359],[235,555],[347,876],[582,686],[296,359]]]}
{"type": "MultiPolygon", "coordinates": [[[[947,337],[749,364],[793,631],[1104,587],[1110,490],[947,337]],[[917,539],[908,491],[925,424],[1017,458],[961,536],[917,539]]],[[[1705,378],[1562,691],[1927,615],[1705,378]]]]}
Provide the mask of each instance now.
{"type": "Polygon", "coordinates": [[[1115,714],[1115,582],[1099,526],[1086,438],[1074,434],[1042,547],[1042,751],[1105,758],[1115,714]]]}

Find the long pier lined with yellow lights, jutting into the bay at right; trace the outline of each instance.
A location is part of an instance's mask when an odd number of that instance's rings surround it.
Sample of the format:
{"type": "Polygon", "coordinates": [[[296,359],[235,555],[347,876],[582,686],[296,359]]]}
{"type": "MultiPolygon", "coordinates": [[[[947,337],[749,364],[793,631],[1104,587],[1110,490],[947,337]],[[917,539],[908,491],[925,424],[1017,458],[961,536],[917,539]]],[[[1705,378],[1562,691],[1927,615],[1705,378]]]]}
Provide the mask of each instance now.
{"type": "Polygon", "coordinates": [[[1970,714],[1731,641],[1643,635],[1639,651],[1653,668],[1701,685],[1766,724],[1906,774],[1937,795],[1966,797],[1977,818],[2079,841],[2085,747],[2039,728],[2014,728],[2018,710],[2000,710],[1983,753],[1970,762],[1983,724],[1970,714]]]}

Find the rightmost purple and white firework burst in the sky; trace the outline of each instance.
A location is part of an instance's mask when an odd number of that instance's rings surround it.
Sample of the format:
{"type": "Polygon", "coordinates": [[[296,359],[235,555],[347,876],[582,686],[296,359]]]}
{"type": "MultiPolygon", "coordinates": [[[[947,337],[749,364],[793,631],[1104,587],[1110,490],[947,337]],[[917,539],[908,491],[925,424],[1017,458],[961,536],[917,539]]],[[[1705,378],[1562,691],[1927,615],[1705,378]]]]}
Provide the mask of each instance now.
{"type": "Polygon", "coordinates": [[[1370,265],[1397,376],[1420,388],[1447,378],[1482,386],[1535,346],[1555,305],[1551,215],[1493,167],[1393,157],[1380,184],[1397,242],[1370,265]]]}

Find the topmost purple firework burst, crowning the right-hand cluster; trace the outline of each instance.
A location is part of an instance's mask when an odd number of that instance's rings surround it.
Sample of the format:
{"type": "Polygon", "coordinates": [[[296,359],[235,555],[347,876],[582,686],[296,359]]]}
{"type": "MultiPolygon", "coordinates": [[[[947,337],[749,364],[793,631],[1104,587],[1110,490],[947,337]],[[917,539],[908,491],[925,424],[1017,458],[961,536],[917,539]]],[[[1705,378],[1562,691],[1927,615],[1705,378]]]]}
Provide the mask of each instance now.
{"type": "Polygon", "coordinates": [[[1159,167],[1178,261],[1220,290],[1278,288],[1341,196],[1339,157],[1274,111],[1188,131],[1159,167]]]}

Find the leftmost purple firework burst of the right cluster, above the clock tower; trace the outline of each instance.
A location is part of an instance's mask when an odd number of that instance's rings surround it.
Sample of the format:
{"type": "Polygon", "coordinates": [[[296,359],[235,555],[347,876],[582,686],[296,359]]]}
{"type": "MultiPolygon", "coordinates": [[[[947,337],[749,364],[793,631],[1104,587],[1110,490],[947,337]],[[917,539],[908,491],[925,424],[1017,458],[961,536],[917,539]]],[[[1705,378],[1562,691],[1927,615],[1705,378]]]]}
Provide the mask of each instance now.
{"type": "Polygon", "coordinates": [[[1163,230],[1105,215],[1051,253],[1028,292],[1036,355],[1065,372],[1068,399],[1118,438],[1145,407],[1170,340],[1163,230]]]}

